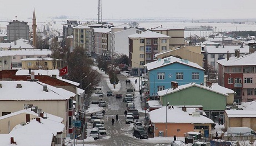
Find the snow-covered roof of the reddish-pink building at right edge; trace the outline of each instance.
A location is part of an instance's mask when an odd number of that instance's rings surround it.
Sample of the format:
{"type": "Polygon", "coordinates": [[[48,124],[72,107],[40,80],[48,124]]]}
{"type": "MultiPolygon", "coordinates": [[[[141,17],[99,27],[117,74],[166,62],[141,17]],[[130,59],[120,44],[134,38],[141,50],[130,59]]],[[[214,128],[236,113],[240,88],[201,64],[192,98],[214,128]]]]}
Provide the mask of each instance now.
{"type": "Polygon", "coordinates": [[[247,55],[241,55],[240,57],[230,57],[229,60],[221,59],[217,63],[222,64],[222,66],[255,66],[256,52],[247,55]]]}

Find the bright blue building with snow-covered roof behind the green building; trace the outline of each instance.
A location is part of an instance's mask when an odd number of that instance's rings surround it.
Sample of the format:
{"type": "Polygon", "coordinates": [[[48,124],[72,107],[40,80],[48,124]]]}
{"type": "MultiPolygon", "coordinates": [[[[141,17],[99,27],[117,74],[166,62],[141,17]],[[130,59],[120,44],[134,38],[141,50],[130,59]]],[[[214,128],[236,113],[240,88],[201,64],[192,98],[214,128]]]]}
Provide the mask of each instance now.
{"type": "Polygon", "coordinates": [[[176,57],[158,58],[144,65],[148,70],[148,89],[150,99],[157,99],[157,92],[171,88],[171,82],[179,85],[204,83],[204,68],[197,63],[176,57]]]}

